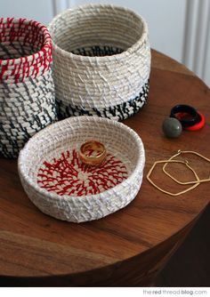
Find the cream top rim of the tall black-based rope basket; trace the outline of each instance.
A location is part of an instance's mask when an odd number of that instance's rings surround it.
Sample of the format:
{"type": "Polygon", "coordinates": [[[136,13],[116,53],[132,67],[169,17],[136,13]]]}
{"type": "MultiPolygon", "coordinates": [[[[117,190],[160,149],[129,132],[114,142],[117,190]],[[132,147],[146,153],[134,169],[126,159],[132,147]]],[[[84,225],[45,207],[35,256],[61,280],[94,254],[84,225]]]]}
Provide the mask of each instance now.
{"type": "Polygon", "coordinates": [[[132,54],[133,52],[135,52],[136,50],[138,50],[138,48],[141,46],[141,44],[144,42],[145,38],[148,37],[148,24],[146,22],[146,20],[144,20],[144,18],[141,17],[140,14],[133,12],[133,10],[125,7],[125,6],[121,6],[121,5],[116,5],[116,4],[84,4],[84,5],[78,5],[75,8],[69,8],[63,12],[60,12],[59,14],[57,14],[52,21],[49,23],[48,25],[48,29],[49,32],[51,33],[51,28],[52,26],[56,23],[57,20],[59,20],[60,18],[63,18],[66,14],[70,14],[70,12],[79,10],[79,9],[85,9],[85,8],[95,8],[95,9],[100,9],[100,8],[114,8],[115,10],[118,11],[124,11],[124,12],[128,12],[131,15],[134,15],[137,19],[141,20],[142,23],[142,34],[140,39],[138,39],[134,44],[132,44],[131,46],[129,46],[124,52],[120,52],[117,54],[113,54],[110,56],[83,56],[83,55],[79,55],[73,52],[68,52],[66,50],[61,49],[61,47],[57,44],[54,43],[53,38],[52,38],[52,47],[54,51],[59,52],[60,54],[69,57],[72,60],[76,60],[76,61],[82,61],[82,62],[95,62],[96,64],[100,63],[100,62],[113,62],[116,61],[118,59],[126,59],[126,57],[130,54],[132,54]]]}

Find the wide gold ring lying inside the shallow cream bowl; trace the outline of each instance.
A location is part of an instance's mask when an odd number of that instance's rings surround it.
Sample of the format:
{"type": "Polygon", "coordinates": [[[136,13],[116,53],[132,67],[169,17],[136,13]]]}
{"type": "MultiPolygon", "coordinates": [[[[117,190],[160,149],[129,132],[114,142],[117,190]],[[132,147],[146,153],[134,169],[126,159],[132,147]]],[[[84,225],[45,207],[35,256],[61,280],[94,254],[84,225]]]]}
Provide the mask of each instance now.
{"type": "Polygon", "coordinates": [[[79,149],[79,157],[86,165],[101,165],[106,156],[106,148],[96,140],[86,141],[79,149]]]}

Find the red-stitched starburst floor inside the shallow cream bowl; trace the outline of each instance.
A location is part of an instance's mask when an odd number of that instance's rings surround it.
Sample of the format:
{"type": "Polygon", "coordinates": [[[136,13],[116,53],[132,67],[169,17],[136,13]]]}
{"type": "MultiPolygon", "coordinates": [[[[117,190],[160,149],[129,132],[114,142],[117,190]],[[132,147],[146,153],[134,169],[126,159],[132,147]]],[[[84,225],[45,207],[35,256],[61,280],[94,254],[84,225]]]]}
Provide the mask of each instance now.
{"type": "Polygon", "coordinates": [[[61,153],[51,163],[44,162],[37,174],[38,185],[58,195],[85,196],[99,194],[128,177],[122,161],[108,154],[99,166],[83,164],[76,149],[61,153]]]}

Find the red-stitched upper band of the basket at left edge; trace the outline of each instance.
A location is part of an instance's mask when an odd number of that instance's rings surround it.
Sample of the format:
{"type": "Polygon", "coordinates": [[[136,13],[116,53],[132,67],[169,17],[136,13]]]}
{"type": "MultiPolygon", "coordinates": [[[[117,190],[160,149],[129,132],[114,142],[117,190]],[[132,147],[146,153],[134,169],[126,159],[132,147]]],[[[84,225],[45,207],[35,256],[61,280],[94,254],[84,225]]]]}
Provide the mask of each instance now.
{"type": "Polygon", "coordinates": [[[24,57],[24,59],[20,57],[18,66],[15,65],[15,59],[6,60],[6,65],[5,60],[0,60],[0,66],[2,66],[0,68],[0,81],[13,79],[15,83],[19,83],[24,81],[31,70],[32,76],[37,76],[49,69],[52,62],[52,43],[50,34],[44,25],[38,23],[36,20],[28,21],[21,18],[17,22],[13,18],[1,18],[0,26],[0,42],[19,42],[20,37],[23,37],[21,41],[23,46],[24,44],[33,44],[35,48],[40,48],[39,52],[30,55],[32,56],[32,59],[30,58],[31,60],[28,60],[28,56],[24,57]],[[4,72],[7,69],[10,71],[5,76],[4,72]]]}

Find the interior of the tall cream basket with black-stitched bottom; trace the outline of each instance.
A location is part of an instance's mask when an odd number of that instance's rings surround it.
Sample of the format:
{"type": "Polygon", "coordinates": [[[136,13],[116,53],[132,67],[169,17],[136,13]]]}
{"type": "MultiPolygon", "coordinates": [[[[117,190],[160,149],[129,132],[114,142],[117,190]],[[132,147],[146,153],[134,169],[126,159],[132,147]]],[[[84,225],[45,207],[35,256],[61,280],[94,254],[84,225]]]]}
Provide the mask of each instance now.
{"type": "Polygon", "coordinates": [[[124,52],[142,35],[143,21],[135,13],[109,6],[67,11],[54,20],[51,35],[62,50],[84,56],[124,52]]]}

